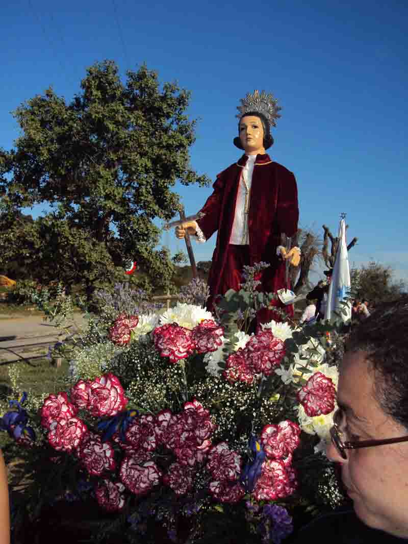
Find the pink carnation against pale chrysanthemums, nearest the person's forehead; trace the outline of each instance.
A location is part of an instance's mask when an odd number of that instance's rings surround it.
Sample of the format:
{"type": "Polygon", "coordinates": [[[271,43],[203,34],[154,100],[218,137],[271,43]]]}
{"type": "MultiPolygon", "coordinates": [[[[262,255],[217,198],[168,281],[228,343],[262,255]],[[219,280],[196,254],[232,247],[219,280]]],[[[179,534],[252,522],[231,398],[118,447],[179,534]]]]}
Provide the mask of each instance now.
{"type": "Polygon", "coordinates": [[[316,372],[298,391],[299,402],[309,417],[325,415],[335,409],[336,388],[321,372],[316,372]]]}

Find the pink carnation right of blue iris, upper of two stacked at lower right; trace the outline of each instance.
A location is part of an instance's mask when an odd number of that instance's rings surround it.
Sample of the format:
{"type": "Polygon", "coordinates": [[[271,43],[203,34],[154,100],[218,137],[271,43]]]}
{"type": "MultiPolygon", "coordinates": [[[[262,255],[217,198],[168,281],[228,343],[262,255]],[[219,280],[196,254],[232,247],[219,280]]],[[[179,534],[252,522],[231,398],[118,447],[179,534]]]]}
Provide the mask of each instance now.
{"type": "Polygon", "coordinates": [[[261,432],[261,443],[270,459],[284,459],[299,446],[300,427],[292,421],[278,425],[265,425],[261,432]]]}

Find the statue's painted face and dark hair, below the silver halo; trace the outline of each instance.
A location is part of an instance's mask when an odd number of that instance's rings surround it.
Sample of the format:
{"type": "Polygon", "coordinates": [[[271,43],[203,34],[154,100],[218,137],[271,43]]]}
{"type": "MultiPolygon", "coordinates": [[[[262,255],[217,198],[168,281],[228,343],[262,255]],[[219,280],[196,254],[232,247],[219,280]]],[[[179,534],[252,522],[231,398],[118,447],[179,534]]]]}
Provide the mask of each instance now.
{"type": "Polygon", "coordinates": [[[247,154],[264,154],[274,143],[268,120],[262,113],[248,112],[238,122],[238,137],[234,145],[247,154]]]}

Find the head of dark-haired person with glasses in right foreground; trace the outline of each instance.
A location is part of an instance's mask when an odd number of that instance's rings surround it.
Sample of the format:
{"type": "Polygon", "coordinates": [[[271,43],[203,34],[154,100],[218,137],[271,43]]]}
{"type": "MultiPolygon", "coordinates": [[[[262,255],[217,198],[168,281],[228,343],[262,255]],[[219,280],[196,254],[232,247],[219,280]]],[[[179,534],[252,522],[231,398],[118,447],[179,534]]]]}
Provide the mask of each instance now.
{"type": "Polygon", "coordinates": [[[408,537],[408,441],[358,444],[408,437],[407,331],[404,295],[379,307],[352,332],[339,372],[336,420],[342,442],[357,448],[327,447],[329,458],[341,463],[357,516],[402,537],[408,537]]]}

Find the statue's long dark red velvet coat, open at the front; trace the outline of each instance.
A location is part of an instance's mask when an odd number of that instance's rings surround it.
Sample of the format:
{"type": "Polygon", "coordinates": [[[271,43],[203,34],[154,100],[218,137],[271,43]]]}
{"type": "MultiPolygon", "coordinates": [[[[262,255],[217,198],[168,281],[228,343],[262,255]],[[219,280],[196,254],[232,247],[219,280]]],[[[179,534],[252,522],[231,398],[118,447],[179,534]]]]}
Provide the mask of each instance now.
{"type": "MultiPolygon", "coordinates": [[[[230,242],[239,180],[248,157],[243,155],[217,176],[214,192],[200,210],[205,214],[197,220],[208,240],[215,231],[217,244],[209,271],[210,298],[207,307],[211,310],[214,296],[219,292],[222,275],[225,273],[227,248],[230,242]]],[[[268,154],[257,155],[252,174],[248,214],[249,254],[248,264],[264,261],[270,263],[262,277],[262,290],[276,292],[286,287],[285,263],[276,256],[281,233],[293,236],[298,230],[298,189],[292,172],[272,161],[268,154]]]]}

